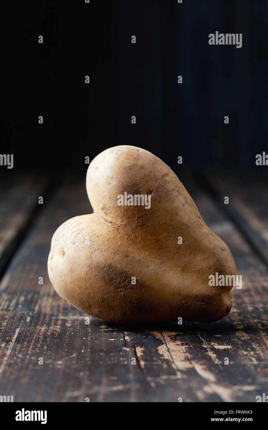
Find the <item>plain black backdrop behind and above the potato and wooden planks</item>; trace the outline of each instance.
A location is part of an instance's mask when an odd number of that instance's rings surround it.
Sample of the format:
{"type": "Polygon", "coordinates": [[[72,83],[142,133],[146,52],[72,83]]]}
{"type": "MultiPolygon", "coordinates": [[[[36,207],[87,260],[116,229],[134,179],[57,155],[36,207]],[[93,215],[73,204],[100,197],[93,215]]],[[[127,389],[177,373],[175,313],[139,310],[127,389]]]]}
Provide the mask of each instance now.
{"type": "Polygon", "coordinates": [[[265,0],[9,3],[1,153],[14,169],[86,170],[85,156],[120,144],[173,169],[179,155],[193,169],[256,169],[268,151],[265,0]],[[210,46],[216,31],[242,33],[242,48],[210,46]]]}

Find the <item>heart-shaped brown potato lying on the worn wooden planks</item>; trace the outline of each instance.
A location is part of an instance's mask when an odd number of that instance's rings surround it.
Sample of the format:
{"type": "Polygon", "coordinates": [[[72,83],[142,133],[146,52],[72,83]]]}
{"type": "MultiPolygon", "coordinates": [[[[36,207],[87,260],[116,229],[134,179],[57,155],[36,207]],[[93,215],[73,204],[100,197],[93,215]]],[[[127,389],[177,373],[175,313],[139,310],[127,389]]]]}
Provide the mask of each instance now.
{"type": "Polygon", "coordinates": [[[162,160],[107,149],[90,163],[86,189],[94,213],[52,237],[48,273],[62,298],[114,323],[212,322],[231,310],[232,286],[209,285],[209,275],[237,273],[231,252],[162,160]],[[138,195],[147,206],[127,204],[138,195]]]}

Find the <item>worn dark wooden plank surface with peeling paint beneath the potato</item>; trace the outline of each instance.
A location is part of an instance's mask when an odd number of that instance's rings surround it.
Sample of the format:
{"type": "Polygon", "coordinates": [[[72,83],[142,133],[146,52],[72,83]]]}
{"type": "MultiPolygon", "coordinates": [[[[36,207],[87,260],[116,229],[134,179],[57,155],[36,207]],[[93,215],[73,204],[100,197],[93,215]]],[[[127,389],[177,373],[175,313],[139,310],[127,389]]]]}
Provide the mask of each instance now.
{"type": "Polygon", "coordinates": [[[267,193],[258,180],[250,191],[246,181],[220,175],[181,180],[243,276],[231,313],[211,324],[127,327],[90,318],[86,325],[46,269],[55,229],[92,212],[85,178],[63,180],[34,216],[41,185],[23,177],[0,191],[0,257],[21,232],[0,281],[0,395],[15,402],[255,402],[268,393],[267,193]]]}

